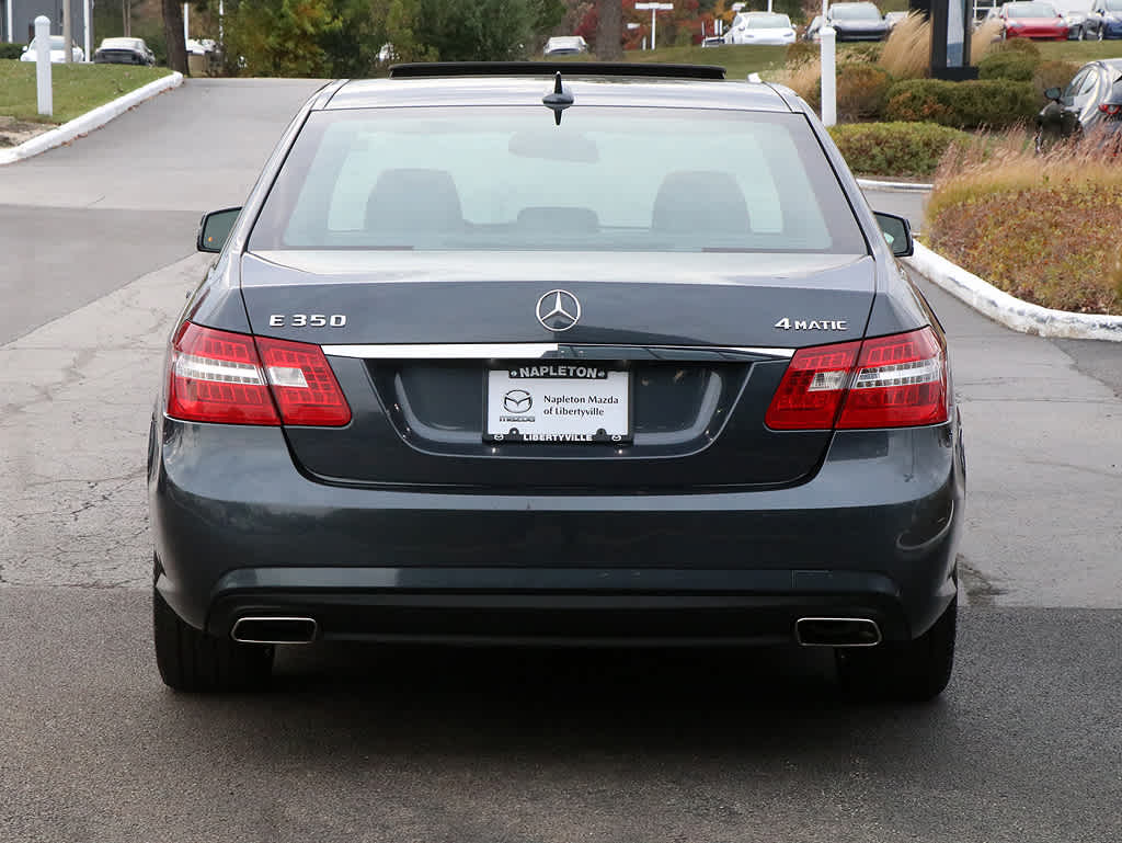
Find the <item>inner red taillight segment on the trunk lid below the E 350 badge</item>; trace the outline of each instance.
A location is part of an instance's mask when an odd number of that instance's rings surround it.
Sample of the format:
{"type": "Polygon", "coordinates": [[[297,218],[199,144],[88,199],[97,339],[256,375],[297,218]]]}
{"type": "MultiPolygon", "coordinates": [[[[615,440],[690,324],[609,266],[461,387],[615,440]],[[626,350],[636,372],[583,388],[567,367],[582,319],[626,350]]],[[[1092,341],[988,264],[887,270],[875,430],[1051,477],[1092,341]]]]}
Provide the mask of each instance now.
{"type": "Polygon", "coordinates": [[[350,406],[319,346],[257,338],[265,374],[285,424],[342,427],[350,406]]]}

